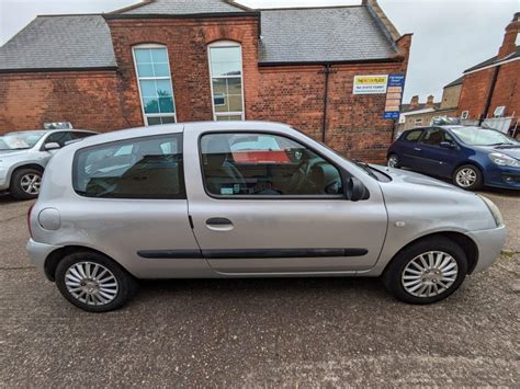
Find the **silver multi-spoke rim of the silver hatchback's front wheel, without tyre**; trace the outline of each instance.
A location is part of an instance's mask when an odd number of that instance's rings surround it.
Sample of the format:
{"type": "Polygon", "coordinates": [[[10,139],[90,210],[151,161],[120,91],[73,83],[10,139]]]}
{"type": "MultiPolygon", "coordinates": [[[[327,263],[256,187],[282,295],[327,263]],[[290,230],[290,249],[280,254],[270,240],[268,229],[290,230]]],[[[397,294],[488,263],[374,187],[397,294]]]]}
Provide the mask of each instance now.
{"type": "Polygon", "coordinates": [[[456,281],[459,265],[443,251],[428,251],[414,258],[405,266],[402,284],[416,297],[434,297],[448,290],[456,281]]]}

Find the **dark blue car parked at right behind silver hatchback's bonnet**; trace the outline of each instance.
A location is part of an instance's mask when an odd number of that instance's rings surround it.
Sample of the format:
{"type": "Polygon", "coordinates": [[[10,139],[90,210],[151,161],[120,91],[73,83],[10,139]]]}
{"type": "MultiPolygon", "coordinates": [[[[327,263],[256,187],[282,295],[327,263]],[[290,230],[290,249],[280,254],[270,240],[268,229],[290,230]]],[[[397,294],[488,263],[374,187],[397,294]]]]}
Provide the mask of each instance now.
{"type": "Polygon", "coordinates": [[[520,142],[495,129],[409,129],[391,146],[387,161],[391,168],[451,179],[464,190],[483,185],[520,190],[520,142]]]}

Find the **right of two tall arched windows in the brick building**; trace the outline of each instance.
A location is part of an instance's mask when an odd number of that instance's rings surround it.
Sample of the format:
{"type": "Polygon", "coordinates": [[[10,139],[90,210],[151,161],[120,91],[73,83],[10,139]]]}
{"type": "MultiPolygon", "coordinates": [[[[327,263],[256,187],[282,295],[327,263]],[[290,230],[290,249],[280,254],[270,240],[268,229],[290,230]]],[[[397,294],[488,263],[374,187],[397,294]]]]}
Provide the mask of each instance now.
{"type": "Polygon", "coordinates": [[[213,119],[244,121],[242,48],[219,41],[207,46],[212,84],[213,119]]]}

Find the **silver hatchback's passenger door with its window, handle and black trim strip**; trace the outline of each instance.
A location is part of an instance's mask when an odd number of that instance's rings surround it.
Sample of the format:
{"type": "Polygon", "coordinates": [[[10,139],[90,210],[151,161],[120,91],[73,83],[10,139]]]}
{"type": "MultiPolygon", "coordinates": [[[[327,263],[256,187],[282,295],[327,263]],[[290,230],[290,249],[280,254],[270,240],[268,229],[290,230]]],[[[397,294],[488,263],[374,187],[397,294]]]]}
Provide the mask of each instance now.
{"type": "Polygon", "coordinates": [[[350,202],[338,165],[301,141],[262,131],[247,140],[239,131],[202,133],[200,141],[185,134],[189,213],[216,272],[354,272],[376,263],[387,215],[375,181],[370,198],[350,202]]]}

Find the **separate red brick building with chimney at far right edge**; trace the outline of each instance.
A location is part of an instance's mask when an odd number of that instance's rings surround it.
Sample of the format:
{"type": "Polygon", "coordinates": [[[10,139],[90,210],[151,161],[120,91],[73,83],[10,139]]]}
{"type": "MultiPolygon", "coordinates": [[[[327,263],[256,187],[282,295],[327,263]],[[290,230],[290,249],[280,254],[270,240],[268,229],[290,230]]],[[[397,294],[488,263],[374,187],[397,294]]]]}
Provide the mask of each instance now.
{"type": "Polygon", "coordinates": [[[457,115],[468,119],[520,116],[520,12],[506,27],[498,54],[464,71],[457,115]]]}

